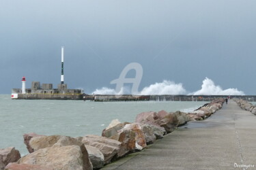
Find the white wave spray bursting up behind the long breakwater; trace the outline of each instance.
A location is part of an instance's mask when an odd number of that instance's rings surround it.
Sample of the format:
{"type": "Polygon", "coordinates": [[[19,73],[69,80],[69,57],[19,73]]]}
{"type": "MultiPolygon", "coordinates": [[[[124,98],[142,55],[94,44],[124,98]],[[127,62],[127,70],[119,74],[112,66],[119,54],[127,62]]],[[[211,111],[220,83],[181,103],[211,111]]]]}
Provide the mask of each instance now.
{"type": "MultiPolygon", "coordinates": [[[[94,95],[127,95],[130,94],[129,89],[123,87],[119,92],[113,88],[102,87],[92,92],[94,95]]],[[[221,88],[215,85],[210,78],[205,78],[201,85],[201,89],[195,92],[188,92],[182,83],[176,84],[173,81],[163,80],[156,82],[150,86],[144,87],[139,94],[132,95],[245,95],[243,91],[237,88],[221,88]]]]}

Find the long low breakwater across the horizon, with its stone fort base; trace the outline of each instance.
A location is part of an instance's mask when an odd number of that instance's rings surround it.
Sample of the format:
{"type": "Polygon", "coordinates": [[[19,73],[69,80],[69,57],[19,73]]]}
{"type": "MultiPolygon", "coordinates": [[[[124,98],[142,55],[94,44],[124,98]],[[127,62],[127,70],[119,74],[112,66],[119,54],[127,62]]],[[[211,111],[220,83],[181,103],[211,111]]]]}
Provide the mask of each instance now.
{"type": "Polygon", "coordinates": [[[65,92],[57,89],[44,90],[28,89],[29,93],[22,94],[20,89],[12,89],[12,99],[47,99],[47,100],[84,100],[84,101],[213,101],[218,98],[236,98],[256,102],[255,95],[87,95],[79,89],[68,89],[65,92]]]}

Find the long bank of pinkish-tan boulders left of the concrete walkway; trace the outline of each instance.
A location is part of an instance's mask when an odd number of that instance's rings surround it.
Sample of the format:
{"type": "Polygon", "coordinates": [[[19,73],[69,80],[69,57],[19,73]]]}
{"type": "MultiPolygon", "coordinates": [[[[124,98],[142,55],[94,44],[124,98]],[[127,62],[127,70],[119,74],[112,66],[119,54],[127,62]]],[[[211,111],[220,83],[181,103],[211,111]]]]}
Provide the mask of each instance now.
{"type": "Polygon", "coordinates": [[[204,120],[218,109],[225,99],[219,98],[191,113],[143,112],[134,122],[113,120],[102,136],[68,137],[61,135],[23,135],[29,154],[20,158],[18,150],[0,150],[2,169],[100,169],[104,165],[133,152],[140,152],[158,139],[189,121],[204,120]]]}

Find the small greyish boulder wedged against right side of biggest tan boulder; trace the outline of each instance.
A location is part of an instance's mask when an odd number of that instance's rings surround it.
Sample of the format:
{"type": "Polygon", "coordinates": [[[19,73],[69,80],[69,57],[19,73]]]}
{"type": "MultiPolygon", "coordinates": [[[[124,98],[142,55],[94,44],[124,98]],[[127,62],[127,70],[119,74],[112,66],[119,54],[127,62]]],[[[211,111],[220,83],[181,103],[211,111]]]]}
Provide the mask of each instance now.
{"type": "Polygon", "coordinates": [[[100,152],[98,148],[95,148],[93,146],[85,145],[85,148],[87,149],[89,159],[91,160],[94,169],[102,168],[104,166],[104,155],[102,154],[102,152],[100,152]]]}

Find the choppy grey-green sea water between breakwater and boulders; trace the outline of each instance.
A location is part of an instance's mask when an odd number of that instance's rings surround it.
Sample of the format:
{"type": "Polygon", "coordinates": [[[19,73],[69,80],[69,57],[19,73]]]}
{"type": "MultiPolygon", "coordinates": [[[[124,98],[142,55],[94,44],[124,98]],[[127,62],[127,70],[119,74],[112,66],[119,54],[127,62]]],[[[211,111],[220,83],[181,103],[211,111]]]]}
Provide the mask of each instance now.
{"type": "Polygon", "coordinates": [[[27,154],[23,143],[24,133],[40,135],[89,134],[101,135],[111,120],[134,122],[137,114],[148,111],[190,112],[207,102],[141,101],[94,102],[12,100],[10,95],[0,95],[0,148],[14,146],[22,155],[27,154]]]}

